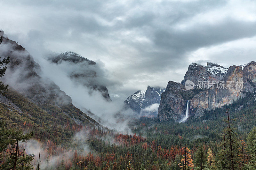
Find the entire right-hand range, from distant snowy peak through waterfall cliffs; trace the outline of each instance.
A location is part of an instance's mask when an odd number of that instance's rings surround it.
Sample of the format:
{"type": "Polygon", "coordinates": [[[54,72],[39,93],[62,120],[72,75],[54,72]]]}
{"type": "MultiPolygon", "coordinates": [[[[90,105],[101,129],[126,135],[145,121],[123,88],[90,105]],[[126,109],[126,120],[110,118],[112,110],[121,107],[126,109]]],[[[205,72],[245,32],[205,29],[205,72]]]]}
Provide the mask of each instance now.
{"type": "Polygon", "coordinates": [[[200,118],[205,110],[222,107],[244,97],[246,92],[256,89],[256,62],[225,68],[208,62],[206,66],[192,63],[188,66],[181,83],[170,81],[165,88],[148,86],[146,91],[139,90],[129,96],[124,103],[140,116],[156,116],[160,121],[180,120],[185,116],[189,101],[189,116],[200,118]],[[195,83],[191,90],[186,90],[185,82],[195,83]],[[218,82],[225,85],[233,82],[231,88],[219,89],[218,82]],[[198,88],[198,82],[206,82],[205,89],[198,88]],[[210,82],[208,87],[208,82],[210,82]],[[236,82],[243,82],[236,89],[236,82]],[[211,87],[211,88],[210,88],[211,87]]]}

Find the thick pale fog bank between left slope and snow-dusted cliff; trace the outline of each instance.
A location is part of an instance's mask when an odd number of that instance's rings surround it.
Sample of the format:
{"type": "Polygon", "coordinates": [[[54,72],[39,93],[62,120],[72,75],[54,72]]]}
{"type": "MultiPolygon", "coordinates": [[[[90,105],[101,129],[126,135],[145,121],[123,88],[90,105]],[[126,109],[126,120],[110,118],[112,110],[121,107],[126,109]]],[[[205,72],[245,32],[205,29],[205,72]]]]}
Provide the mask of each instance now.
{"type": "MultiPolygon", "coordinates": [[[[103,98],[101,92],[92,90],[91,88],[77,83],[76,80],[70,78],[70,72],[81,71],[74,70],[82,69],[82,67],[79,67],[79,64],[74,65],[69,62],[55,64],[50,63],[43,57],[39,58],[39,63],[42,69],[41,76],[50,78],[58,86],[60,86],[60,90],[64,91],[68,96],[71,97],[72,103],[76,107],[78,107],[84,113],[88,113],[87,109],[90,110],[93,114],[96,115],[90,116],[96,119],[96,121],[98,118],[100,118],[100,123],[103,126],[107,126],[111,129],[114,128],[120,131],[127,130],[127,123],[131,120],[127,119],[127,117],[132,118],[135,113],[133,113],[131,109],[124,107],[123,101],[109,102],[103,98]],[[120,115],[122,116],[120,117],[120,115]]],[[[92,80],[92,78],[84,78],[85,82],[97,81],[101,85],[104,85],[105,80],[106,84],[108,84],[107,79],[104,77],[98,77],[94,80],[92,80]]]]}

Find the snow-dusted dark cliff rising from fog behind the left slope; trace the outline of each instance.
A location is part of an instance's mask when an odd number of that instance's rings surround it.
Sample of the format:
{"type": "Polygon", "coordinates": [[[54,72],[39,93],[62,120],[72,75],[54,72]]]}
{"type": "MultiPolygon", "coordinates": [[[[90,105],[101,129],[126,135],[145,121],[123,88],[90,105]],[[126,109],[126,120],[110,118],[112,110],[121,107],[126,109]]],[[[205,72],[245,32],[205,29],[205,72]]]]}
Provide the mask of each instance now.
{"type": "Polygon", "coordinates": [[[68,69],[65,67],[62,67],[62,69],[68,73],[71,79],[91,90],[101,92],[107,101],[111,101],[107,87],[97,81],[97,70],[100,70],[100,68],[97,68],[94,61],[72,51],[66,51],[60,54],[56,53],[56,55],[48,57],[48,60],[57,65],[67,64],[68,69]]]}

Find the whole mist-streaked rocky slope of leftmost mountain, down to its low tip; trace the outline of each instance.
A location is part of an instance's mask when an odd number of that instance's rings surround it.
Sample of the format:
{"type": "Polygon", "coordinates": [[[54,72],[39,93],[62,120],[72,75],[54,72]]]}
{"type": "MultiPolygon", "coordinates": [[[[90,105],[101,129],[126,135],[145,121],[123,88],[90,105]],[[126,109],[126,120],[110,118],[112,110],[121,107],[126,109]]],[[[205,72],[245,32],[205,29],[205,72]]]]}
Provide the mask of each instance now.
{"type": "MultiPolygon", "coordinates": [[[[1,32],[2,34],[3,32],[1,32]]],[[[17,103],[23,106],[22,97],[29,100],[28,102],[33,102],[55,119],[62,118],[62,121],[66,120],[70,123],[84,125],[94,125],[97,123],[86,113],[76,108],[72,104],[71,98],[61,91],[59,86],[51,80],[39,76],[38,73],[41,71],[40,65],[17,42],[3,37],[3,43],[0,45],[0,56],[10,56],[10,63],[7,65],[6,74],[1,80],[12,89],[12,92],[5,96],[11,103],[14,100],[18,100],[20,102],[17,103]]],[[[2,97],[2,99],[4,104],[5,98],[2,97]]],[[[22,110],[21,107],[20,109],[22,110]]],[[[28,114],[29,112],[34,111],[27,110],[28,114]]]]}

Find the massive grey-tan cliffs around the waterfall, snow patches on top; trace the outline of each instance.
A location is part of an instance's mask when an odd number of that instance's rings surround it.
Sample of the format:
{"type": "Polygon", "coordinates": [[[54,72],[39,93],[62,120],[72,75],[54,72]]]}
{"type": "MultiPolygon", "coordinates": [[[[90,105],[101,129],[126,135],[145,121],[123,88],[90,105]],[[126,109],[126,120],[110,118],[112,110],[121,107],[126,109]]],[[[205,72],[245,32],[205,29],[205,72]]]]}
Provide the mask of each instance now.
{"type": "Polygon", "coordinates": [[[210,69],[213,68],[212,64],[207,63],[207,66],[205,67],[195,63],[191,64],[181,84],[183,86],[187,79],[193,82],[215,81],[216,83],[211,88],[200,91],[196,91],[196,89],[186,90],[179,83],[176,83],[175,86],[173,82],[168,83],[166,91],[162,94],[158,109],[158,118],[160,121],[172,118],[179,120],[182,118],[185,114],[185,105],[188,100],[190,100],[190,116],[199,118],[204,114],[205,109],[211,110],[216,107],[222,107],[225,104],[230,104],[239,97],[244,97],[246,92],[253,92],[256,89],[256,62],[248,63],[244,65],[244,68],[235,65],[230,66],[227,72],[225,72],[224,67],[216,66],[215,64],[214,67],[218,67],[218,69],[209,72],[209,70],[214,69],[210,69]],[[210,65],[211,67],[209,67],[210,65]],[[221,76],[224,72],[225,75],[222,78],[221,76]],[[225,82],[225,88],[218,88],[220,84],[217,81],[225,82]],[[236,82],[239,82],[237,83],[237,87],[236,82]],[[240,82],[243,82],[243,84],[240,82]],[[230,83],[232,87],[229,88],[227,85],[230,83]],[[240,85],[241,87],[239,87],[240,85]],[[177,95],[180,93],[183,96],[177,95]]]}

